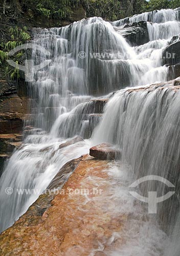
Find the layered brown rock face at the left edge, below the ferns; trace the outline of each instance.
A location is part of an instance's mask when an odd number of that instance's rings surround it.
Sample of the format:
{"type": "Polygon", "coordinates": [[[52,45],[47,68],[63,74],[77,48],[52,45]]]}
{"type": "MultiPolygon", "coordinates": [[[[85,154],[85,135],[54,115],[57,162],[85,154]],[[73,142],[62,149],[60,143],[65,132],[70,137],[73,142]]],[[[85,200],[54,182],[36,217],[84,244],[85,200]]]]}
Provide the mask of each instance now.
{"type": "Polygon", "coordinates": [[[0,81],[0,176],[4,162],[23,138],[21,133],[29,103],[25,87],[17,91],[13,82],[0,81]]]}

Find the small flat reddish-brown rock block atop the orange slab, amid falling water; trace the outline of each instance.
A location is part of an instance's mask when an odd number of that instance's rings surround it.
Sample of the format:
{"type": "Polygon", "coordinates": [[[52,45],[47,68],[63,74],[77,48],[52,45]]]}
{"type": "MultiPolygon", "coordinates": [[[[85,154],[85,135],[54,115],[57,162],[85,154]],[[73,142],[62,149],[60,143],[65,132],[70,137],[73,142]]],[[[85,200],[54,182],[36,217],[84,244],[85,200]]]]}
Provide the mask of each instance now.
{"type": "Polygon", "coordinates": [[[91,147],[89,155],[99,160],[115,160],[120,158],[120,151],[116,150],[111,144],[102,143],[91,147]]]}

